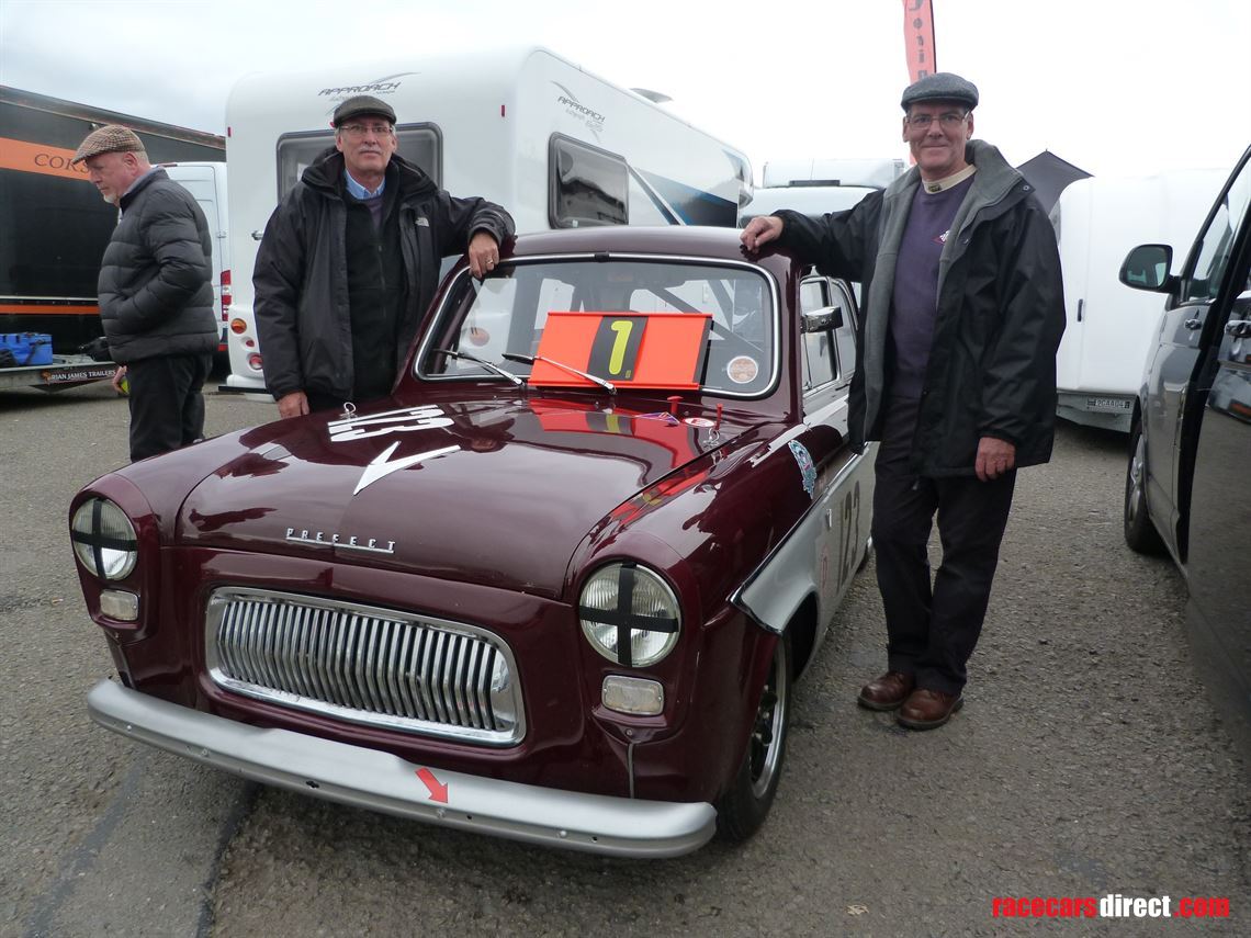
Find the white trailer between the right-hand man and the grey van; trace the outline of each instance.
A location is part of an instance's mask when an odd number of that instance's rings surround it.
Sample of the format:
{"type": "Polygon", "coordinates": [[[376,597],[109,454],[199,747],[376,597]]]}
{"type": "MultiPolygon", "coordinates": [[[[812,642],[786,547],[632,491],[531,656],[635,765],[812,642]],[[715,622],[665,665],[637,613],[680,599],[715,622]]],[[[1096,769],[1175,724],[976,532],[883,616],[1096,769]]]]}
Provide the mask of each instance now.
{"type": "MultiPolygon", "coordinates": [[[[1051,210],[1067,311],[1056,353],[1060,416],[1130,431],[1163,301],[1158,294],[1126,290],[1117,271],[1135,245],[1190,244],[1225,176],[1225,170],[1202,169],[1091,176],[1061,193],[1051,210]]],[[[1185,260],[1178,255],[1175,264],[1185,260]]]]}

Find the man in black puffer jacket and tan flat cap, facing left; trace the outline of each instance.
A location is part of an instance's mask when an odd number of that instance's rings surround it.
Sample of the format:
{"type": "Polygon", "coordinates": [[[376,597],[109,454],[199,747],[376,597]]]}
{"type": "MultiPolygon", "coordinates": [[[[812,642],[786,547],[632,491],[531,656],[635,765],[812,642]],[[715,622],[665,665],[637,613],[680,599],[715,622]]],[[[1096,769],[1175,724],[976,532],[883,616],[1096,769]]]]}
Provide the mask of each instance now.
{"type": "Polygon", "coordinates": [[[134,131],[109,124],[74,154],[121,218],[100,265],[100,320],[130,384],[130,459],[204,435],[200,393],[213,366],[213,241],[195,199],[148,161],[134,131]]]}

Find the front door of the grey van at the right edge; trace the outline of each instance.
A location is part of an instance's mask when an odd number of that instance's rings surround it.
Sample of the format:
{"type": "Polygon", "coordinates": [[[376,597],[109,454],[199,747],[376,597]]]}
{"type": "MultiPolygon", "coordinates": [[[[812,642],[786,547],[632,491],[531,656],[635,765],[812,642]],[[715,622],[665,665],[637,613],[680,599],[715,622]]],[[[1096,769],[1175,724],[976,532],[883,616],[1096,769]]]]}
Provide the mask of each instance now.
{"type": "MultiPolygon", "coordinates": [[[[1156,358],[1147,373],[1147,399],[1142,414],[1147,441],[1147,500],[1157,525],[1180,532],[1187,508],[1193,433],[1200,425],[1203,396],[1196,395],[1205,349],[1211,348],[1221,324],[1210,320],[1246,216],[1251,188],[1251,161],[1242,161],[1226,184],[1191,249],[1160,325],[1156,358]],[[1187,434],[1190,434],[1187,436],[1187,434]]],[[[1176,538],[1178,559],[1185,559],[1183,535],[1176,538]]]]}

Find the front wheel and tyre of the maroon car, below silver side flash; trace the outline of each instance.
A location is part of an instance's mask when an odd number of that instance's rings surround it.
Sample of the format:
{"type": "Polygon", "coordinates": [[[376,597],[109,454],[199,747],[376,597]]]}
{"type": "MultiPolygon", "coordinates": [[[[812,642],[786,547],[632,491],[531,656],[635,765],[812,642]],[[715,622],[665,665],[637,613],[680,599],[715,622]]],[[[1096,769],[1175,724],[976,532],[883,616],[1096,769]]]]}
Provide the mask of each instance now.
{"type": "Polygon", "coordinates": [[[743,762],[729,789],[717,802],[717,830],[733,843],[759,830],[773,805],[791,725],[791,635],[787,632],[774,645],[743,762]]]}

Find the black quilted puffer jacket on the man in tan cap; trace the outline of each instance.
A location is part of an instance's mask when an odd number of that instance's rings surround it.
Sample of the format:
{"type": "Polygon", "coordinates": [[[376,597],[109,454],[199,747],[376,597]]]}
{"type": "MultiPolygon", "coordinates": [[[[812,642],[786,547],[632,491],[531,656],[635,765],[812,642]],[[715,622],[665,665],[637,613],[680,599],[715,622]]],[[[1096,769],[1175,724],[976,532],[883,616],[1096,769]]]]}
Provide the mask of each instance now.
{"type": "Polygon", "coordinates": [[[165,170],[121,198],[121,220],[104,249],[100,321],[118,364],[216,351],[213,239],[194,196],[165,170]]]}

